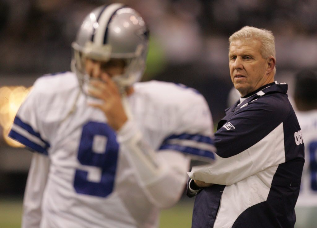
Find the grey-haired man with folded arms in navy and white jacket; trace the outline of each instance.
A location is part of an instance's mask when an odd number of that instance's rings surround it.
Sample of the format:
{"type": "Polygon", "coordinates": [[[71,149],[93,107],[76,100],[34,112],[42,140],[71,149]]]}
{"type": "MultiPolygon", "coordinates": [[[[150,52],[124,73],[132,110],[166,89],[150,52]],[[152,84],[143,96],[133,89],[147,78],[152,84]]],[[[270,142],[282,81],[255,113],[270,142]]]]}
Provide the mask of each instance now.
{"type": "Polygon", "coordinates": [[[245,26],[229,42],[241,98],[218,123],[215,162],[188,173],[192,227],[294,227],[304,145],[288,86],[274,81],[273,33],[245,26]]]}

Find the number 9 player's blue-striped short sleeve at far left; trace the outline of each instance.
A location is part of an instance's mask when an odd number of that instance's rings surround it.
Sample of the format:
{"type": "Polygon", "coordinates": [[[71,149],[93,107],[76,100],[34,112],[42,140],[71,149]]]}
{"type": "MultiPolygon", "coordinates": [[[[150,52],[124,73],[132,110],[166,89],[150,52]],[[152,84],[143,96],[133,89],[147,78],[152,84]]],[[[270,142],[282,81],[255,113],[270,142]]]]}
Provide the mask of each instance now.
{"type": "Polygon", "coordinates": [[[48,154],[50,147],[48,140],[39,124],[39,106],[42,95],[38,92],[38,83],[35,83],[30,93],[20,106],[14,118],[9,137],[19,141],[32,151],[48,154]]]}

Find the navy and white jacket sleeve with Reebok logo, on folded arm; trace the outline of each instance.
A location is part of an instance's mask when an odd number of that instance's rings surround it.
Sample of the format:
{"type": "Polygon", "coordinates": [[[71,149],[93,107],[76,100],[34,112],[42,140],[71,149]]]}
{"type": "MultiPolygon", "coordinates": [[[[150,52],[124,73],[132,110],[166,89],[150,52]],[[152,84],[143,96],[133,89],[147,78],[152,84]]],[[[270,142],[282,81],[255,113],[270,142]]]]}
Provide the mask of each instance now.
{"type": "MultiPolygon", "coordinates": [[[[285,106],[284,106],[285,107],[285,106]]],[[[283,120],[289,110],[262,102],[242,107],[215,133],[210,166],[194,167],[191,179],[231,185],[285,162],[283,120]]]]}

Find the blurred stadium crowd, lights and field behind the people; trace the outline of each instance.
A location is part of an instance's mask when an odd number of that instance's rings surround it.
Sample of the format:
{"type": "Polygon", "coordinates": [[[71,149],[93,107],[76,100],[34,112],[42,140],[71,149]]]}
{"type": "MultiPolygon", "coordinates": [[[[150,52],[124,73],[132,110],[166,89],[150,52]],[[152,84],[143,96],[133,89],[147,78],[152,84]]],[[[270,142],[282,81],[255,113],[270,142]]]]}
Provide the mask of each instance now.
{"type": "MultiPolygon", "coordinates": [[[[113,2],[0,0],[1,228],[19,227],[31,156],[6,138],[15,113],[36,78],[70,70],[70,45],[82,20],[95,7],[113,2]]],[[[228,37],[243,26],[273,31],[276,80],[288,83],[289,95],[297,71],[317,70],[315,0],[117,2],[139,11],[150,28],[150,50],[143,81],[173,81],[197,89],[208,101],[215,125],[228,107],[232,88],[228,37]]],[[[163,212],[161,227],[190,227],[192,204],[192,199],[182,197],[175,210],[163,212]],[[182,220],[188,225],[175,225],[169,219],[182,220]]]]}

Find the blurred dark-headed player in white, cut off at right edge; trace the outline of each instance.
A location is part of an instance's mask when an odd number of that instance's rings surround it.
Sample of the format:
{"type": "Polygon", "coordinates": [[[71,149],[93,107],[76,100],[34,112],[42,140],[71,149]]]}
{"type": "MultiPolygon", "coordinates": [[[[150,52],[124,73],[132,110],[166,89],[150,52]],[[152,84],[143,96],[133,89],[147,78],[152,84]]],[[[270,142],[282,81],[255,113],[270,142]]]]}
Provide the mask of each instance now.
{"type": "Polygon", "coordinates": [[[295,75],[296,115],[305,143],[301,191],[296,203],[296,228],[317,225],[317,74],[302,70],[295,75]]]}

